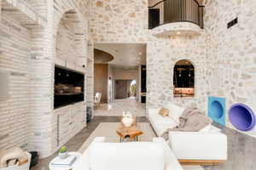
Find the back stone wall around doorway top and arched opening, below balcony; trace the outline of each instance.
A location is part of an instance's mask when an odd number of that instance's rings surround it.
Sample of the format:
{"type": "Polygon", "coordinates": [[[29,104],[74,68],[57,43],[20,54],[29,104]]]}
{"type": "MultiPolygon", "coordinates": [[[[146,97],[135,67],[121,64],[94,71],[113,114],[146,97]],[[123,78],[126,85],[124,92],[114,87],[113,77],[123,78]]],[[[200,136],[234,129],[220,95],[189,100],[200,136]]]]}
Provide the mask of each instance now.
{"type": "MultiPolygon", "coordinates": [[[[154,36],[148,30],[148,1],[92,1],[90,31],[95,42],[147,43],[147,107],[159,107],[174,101],[179,105],[197,105],[206,109],[206,46],[200,36],[154,36]],[[195,64],[195,98],[173,98],[173,67],[178,59],[195,64]]],[[[189,30],[194,24],[186,25],[189,30]]],[[[177,23],[177,27],[180,27],[177,23]]],[[[198,26],[197,26],[198,27],[198,26]]]]}

